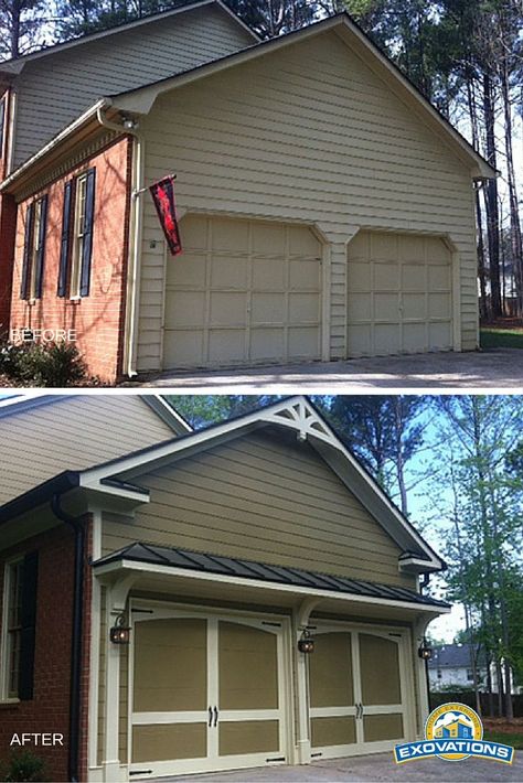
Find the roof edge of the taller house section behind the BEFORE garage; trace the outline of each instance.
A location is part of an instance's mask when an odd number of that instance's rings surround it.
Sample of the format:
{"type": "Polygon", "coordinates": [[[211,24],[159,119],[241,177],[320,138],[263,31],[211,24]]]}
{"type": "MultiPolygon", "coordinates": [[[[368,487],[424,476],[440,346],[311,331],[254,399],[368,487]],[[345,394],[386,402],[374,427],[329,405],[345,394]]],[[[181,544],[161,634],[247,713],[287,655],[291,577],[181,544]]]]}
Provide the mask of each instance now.
{"type": "Polygon", "coordinates": [[[127,32],[128,30],[134,30],[135,28],[140,28],[151,22],[157,22],[160,19],[168,19],[186,11],[193,11],[194,9],[204,8],[206,6],[216,6],[222,9],[231,19],[233,19],[238,25],[241,25],[252,37],[254,42],[259,41],[259,36],[250,30],[250,28],[245,24],[239,17],[237,17],[222,0],[180,0],[174,8],[168,8],[164,11],[158,11],[156,13],[149,13],[140,19],[134,19],[130,22],[122,22],[121,24],[115,24],[107,30],[98,30],[93,33],[85,33],[84,35],[78,35],[71,41],[63,41],[51,46],[45,46],[44,49],[38,50],[36,52],[31,52],[29,54],[23,54],[19,57],[12,57],[11,60],[4,60],[0,62],[0,73],[6,74],[18,74],[22,71],[25,63],[33,60],[40,60],[41,57],[46,57],[47,55],[53,55],[56,53],[65,52],[68,49],[74,49],[84,43],[90,43],[93,41],[98,41],[100,39],[107,37],[109,35],[118,35],[119,33],[127,32]]]}

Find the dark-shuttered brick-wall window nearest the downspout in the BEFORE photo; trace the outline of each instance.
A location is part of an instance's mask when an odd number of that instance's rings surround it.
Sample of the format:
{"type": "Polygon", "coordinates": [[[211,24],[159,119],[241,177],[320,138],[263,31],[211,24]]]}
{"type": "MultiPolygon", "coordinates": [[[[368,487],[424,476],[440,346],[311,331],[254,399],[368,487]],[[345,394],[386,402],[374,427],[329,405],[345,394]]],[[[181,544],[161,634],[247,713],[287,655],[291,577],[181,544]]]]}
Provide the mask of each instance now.
{"type": "Polygon", "coordinates": [[[81,299],[89,294],[95,169],[65,183],[60,254],[58,297],[81,299]]]}

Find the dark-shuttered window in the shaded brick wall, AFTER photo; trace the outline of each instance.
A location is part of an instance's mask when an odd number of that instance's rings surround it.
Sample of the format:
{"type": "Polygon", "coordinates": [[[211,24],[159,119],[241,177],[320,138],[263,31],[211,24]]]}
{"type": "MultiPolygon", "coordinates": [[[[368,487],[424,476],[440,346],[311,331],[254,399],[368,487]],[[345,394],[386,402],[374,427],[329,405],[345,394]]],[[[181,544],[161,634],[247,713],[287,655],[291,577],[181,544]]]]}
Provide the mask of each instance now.
{"type": "Polygon", "coordinates": [[[33,698],[38,553],[6,564],[0,699],[33,698]]]}

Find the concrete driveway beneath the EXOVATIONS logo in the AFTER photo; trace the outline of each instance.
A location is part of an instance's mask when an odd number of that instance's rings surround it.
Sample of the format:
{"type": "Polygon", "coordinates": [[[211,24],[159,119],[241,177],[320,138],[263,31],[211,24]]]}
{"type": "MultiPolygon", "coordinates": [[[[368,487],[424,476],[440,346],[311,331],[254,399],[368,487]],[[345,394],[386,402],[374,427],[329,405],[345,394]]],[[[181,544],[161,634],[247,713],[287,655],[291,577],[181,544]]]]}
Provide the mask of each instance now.
{"type": "Polygon", "coordinates": [[[466,761],[442,761],[423,759],[403,764],[394,763],[392,753],[376,753],[352,759],[316,761],[310,766],[264,766],[255,770],[215,772],[205,775],[162,777],[162,783],[319,783],[320,781],[436,781],[437,783],[472,783],[473,781],[523,781],[523,754],[515,752],[512,765],[489,760],[467,759],[466,761]]]}

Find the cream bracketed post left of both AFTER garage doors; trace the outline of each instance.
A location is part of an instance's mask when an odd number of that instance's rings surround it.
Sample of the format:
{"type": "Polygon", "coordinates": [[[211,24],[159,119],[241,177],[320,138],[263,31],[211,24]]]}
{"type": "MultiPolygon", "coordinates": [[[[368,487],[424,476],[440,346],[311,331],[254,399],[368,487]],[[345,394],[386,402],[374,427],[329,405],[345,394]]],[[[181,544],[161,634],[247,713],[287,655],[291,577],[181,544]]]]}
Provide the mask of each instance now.
{"type": "Polygon", "coordinates": [[[107,633],[106,648],[106,687],[105,687],[105,752],[102,763],[106,783],[125,783],[128,770],[119,758],[119,722],[120,722],[120,645],[109,640],[109,629],[116,618],[126,610],[127,596],[136,576],[128,576],[107,590],[107,633]]]}

